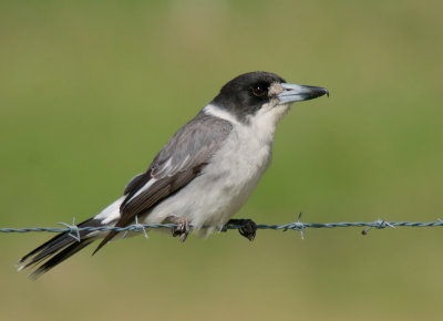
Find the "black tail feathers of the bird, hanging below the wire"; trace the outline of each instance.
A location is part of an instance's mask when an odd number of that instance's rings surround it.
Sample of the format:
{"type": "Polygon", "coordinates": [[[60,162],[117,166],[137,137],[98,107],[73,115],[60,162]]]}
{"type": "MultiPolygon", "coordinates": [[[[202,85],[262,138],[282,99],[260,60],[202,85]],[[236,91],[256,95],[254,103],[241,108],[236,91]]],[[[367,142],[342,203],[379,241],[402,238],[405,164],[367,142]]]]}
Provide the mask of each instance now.
{"type": "MultiPolygon", "coordinates": [[[[101,226],[99,220],[93,218],[85,220],[79,227],[97,227],[101,226]]],[[[31,275],[30,278],[37,279],[44,272],[48,272],[53,267],[60,265],[65,259],[70,258],[84,247],[89,246],[96,239],[95,235],[90,231],[80,231],[80,241],[75,240],[69,232],[59,234],[37,249],[32,250],[18,262],[19,271],[31,266],[39,266],[31,275]]]]}

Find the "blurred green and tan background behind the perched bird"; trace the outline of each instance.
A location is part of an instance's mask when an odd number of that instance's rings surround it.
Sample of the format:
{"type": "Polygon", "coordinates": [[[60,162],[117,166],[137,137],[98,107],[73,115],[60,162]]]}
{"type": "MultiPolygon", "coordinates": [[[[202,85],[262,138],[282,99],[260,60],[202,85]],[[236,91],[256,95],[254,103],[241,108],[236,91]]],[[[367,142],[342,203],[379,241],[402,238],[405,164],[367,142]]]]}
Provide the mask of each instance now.
{"type": "MultiPolygon", "coordinates": [[[[293,105],[237,217],[443,218],[441,1],[3,1],[1,227],[99,213],[231,77],[326,86],[293,105]]],[[[35,282],[0,235],[4,320],[439,320],[440,228],[151,232],[35,282]]]]}

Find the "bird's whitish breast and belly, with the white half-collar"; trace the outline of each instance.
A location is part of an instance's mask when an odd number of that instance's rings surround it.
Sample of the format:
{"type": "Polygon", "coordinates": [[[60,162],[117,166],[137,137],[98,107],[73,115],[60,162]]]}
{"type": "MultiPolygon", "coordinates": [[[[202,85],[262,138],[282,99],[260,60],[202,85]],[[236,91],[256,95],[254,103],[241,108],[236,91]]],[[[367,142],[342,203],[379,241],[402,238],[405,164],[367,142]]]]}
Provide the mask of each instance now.
{"type": "Polygon", "coordinates": [[[181,217],[195,227],[219,230],[245,205],[271,162],[274,134],[278,120],[288,106],[275,106],[238,122],[227,112],[207,105],[207,114],[233,124],[222,148],[212,157],[200,176],[176,195],[158,204],[146,217],[146,224],[162,222],[168,216],[181,217]]]}

